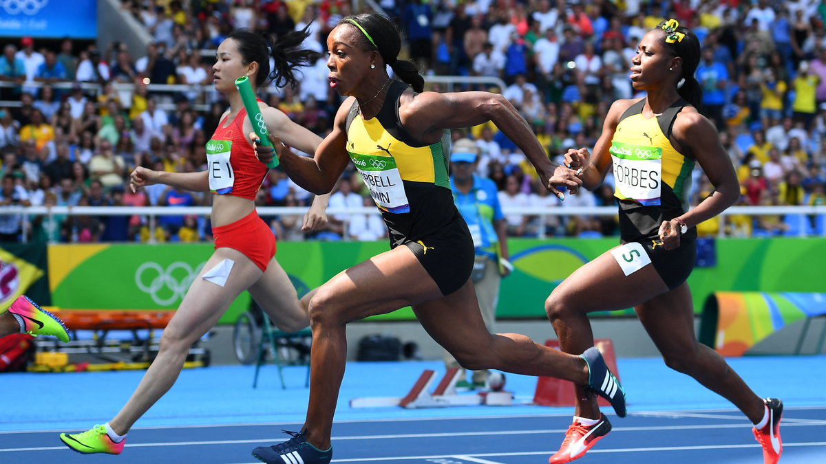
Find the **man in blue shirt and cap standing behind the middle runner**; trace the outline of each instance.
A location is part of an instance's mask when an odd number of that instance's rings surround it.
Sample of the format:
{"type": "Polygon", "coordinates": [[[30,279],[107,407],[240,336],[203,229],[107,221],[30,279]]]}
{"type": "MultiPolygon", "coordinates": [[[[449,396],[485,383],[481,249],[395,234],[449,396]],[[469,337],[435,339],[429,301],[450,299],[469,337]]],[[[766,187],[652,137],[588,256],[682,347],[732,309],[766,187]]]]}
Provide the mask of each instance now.
{"type": "MultiPolygon", "coordinates": [[[[487,329],[493,333],[496,322],[496,302],[499,300],[501,278],[508,275],[512,266],[508,262],[508,244],[506,242],[505,215],[499,205],[496,184],[488,178],[474,174],[479,161],[476,144],[472,140],[460,139],[453,144],[450,156],[450,189],[453,201],[468,223],[468,229],[476,246],[476,260],[473,263],[471,278],[476,288],[476,297],[482,319],[487,329]]],[[[444,352],[444,364],[447,367],[459,367],[458,362],[444,352]]],[[[490,372],[474,371],[472,386],[485,386],[490,372]]],[[[470,386],[459,377],[458,386],[470,386]]]]}

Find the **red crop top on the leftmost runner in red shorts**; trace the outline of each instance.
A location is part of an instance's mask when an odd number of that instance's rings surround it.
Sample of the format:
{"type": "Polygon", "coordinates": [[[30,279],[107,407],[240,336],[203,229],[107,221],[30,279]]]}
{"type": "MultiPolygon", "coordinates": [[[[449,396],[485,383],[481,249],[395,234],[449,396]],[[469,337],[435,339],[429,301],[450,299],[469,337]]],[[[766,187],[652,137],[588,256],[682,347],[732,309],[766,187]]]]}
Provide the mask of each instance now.
{"type": "Polygon", "coordinates": [[[254,200],[267,175],[267,166],[255,157],[255,151],[244,136],[244,118],[241,108],[228,127],[226,118],[207,142],[207,169],[209,189],[216,195],[240,196],[254,200]]]}

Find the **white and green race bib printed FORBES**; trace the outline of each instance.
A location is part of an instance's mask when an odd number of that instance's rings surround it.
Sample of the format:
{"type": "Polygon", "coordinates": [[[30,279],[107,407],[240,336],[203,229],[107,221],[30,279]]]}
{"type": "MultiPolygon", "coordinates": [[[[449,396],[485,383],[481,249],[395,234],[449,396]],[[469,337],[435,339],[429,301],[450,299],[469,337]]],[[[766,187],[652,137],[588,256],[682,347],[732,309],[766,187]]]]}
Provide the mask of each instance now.
{"type": "Polygon", "coordinates": [[[614,162],[615,196],[641,205],[659,205],[662,149],[615,141],[609,152],[614,162]]]}

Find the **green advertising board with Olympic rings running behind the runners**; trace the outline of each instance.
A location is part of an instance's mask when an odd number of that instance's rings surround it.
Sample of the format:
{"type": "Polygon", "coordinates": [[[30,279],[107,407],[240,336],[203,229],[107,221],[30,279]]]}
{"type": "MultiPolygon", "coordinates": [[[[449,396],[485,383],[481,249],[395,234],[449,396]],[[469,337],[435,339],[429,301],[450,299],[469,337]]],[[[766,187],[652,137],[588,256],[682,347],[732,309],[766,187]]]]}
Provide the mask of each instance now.
{"type": "MultiPolygon", "coordinates": [[[[514,271],[502,281],[499,318],[544,318],[544,301],[565,277],[616,239],[511,239],[514,271]]],[[[387,250],[387,242],[281,242],[278,263],[299,288],[387,250]]],[[[826,291],[826,239],[720,239],[708,267],[689,277],[695,311],[714,291],[826,291]]],[[[211,244],[60,244],[49,248],[52,304],[71,309],[174,309],[212,253],[211,244]]],[[[606,289],[606,291],[621,291],[606,289]]],[[[244,293],[221,318],[249,306],[244,293]]],[[[409,320],[410,308],[378,320],[409,320]]]]}

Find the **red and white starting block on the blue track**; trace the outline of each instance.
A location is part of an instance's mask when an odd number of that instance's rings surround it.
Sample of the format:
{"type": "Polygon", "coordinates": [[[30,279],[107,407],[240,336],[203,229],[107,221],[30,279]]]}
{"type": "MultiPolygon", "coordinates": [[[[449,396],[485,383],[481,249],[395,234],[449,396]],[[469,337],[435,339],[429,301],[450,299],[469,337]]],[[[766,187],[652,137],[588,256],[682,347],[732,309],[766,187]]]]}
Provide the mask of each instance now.
{"type": "Polygon", "coordinates": [[[496,405],[510,406],[513,404],[513,393],[510,391],[480,391],[476,394],[458,395],[456,382],[460,375],[458,367],[451,367],[444,373],[439,385],[431,393],[430,386],[436,381],[436,372],[425,369],[419,380],[415,381],[411,391],[404,397],[374,396],[354,398],[350,400],[351,408],[381,408],[387,406],[401,406],[409,410],[418,408],[444,408],[448,406],[476,406],[496,405]]]}

